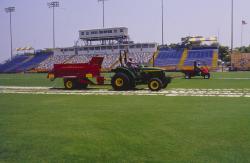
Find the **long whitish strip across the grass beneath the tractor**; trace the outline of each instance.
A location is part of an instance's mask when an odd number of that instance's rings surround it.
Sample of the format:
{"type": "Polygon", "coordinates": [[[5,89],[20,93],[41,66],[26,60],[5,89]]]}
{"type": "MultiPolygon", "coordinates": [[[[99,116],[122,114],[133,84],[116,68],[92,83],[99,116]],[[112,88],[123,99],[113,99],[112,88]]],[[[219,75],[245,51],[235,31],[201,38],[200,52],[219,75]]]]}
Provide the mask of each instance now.
{"type": "Polygon", "coordinates": [[[191,97],[250,97],[250,89],[168,89],[151,92],[148,89],[135,91],[111,90],[63,90],[50,87],[0,86],[0,94],[49,94],[49,95],[124,95],[124,96],[191,96],[191,97]]]}

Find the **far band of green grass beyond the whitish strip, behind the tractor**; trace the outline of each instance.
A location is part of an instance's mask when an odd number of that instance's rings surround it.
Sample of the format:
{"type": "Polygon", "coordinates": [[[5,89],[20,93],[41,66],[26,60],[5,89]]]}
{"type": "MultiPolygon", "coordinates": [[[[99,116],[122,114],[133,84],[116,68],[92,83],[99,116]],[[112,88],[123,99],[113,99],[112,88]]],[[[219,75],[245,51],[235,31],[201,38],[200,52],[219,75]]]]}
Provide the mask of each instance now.
{"type": "MultiPolygon", "coordinates": [[[[175,73],[170,75],[182,75],[175,73]]],[[[48,86],[62,88],[62,79],[51,82],[46,78],[47,74],[1,74],[0,86],[48,86]]],[[[175,78],[168,88],[250,88],[250,72],[225,72],[212,73],[211,80],[201,77],[192,80],[175,78]],[[223,80],[223,78],[226,78],[223,80]],[[234,78],[246,78],[248,80],[235,80],[234,78]]],[[[95,86],[96,87],[96,86],[95,86]]],[[[106,88],[99,87],[98,88],[106,88]]],[[[111,88],[111,87],[108,87],[111,88]]]]}

